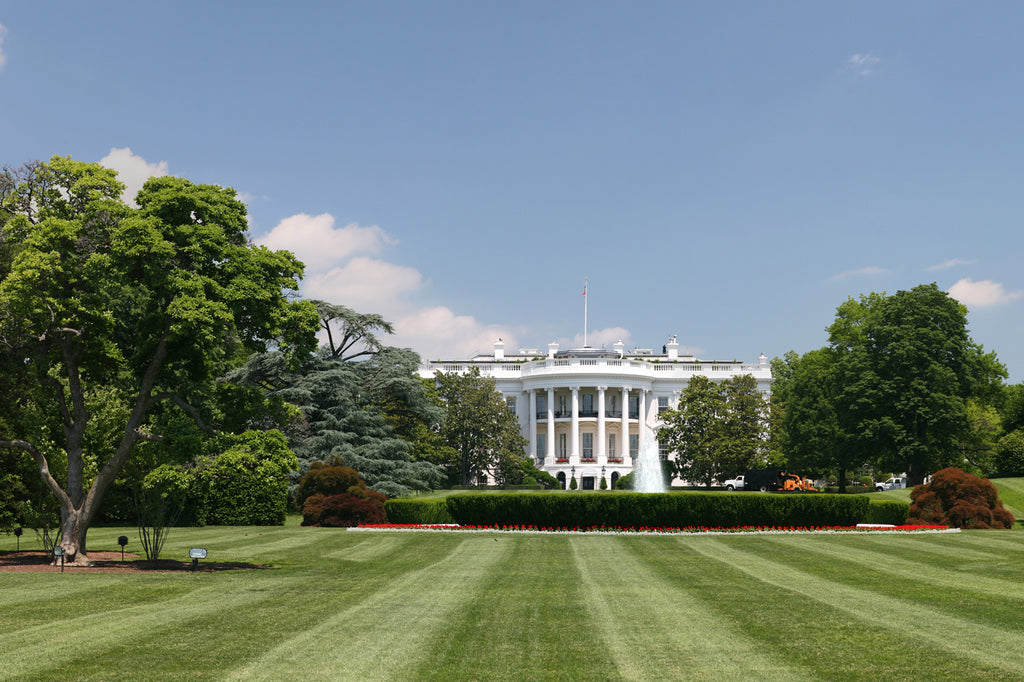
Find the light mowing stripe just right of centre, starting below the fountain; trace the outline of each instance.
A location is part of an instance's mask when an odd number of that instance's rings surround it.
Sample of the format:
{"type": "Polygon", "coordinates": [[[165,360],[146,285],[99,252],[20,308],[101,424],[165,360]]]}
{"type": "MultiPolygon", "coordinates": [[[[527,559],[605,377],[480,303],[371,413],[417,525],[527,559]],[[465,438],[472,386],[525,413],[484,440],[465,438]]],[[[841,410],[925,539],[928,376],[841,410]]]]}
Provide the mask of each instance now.
{"type": "MultiPolygon", "coordinates": [[[[811,679],[792,662],[770,655],[687,586],[639,561],[626,546],[639,540],[571,539],[592,619],[625,679],[695,679],[710,665],[716,677],[811,679]]],[[[692,556],[686,548],[677,551],[692,556]]]]}

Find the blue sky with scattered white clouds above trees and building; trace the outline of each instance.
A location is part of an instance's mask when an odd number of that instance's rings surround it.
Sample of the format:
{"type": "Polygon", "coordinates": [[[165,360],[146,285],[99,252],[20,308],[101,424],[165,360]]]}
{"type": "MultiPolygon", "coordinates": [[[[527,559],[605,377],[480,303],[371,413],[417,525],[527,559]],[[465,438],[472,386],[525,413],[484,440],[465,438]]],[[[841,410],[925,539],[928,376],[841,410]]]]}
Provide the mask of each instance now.
{"type": "Polygon", "coordinates": [[[1024,4],[0,0],[0,161],[234,187],[428,358],[754,361],[936,282],[1024,380],[1024,4]]]}

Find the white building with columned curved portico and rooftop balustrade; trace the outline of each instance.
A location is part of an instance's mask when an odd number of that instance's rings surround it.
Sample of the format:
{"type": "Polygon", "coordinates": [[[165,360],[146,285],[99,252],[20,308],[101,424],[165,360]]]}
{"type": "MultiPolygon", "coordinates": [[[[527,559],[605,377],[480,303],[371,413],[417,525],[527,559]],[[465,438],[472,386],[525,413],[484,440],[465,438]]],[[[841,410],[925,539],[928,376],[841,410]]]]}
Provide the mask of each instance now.
{"type": "Polygon", "coordinates": [[[706,361],[680,355],[676,337],[654,352],[625,349],[622,342],[606,348],[559,350],[536,348],[506,353],[499,339],[494,352],[464,360],[425,364],[420,375],[463,373],[477,368],[515,412],[528,455],[539,469],[563,484],[575,476],[581,488],[596,488],[602,476],[613,486],[633,471],[647,433],[660,426],[658,415],[675,408],[690,378],[702,375],[722,382],[749,374],[767,398],[771,370],[762,353],[756,365],[706,361]]]}

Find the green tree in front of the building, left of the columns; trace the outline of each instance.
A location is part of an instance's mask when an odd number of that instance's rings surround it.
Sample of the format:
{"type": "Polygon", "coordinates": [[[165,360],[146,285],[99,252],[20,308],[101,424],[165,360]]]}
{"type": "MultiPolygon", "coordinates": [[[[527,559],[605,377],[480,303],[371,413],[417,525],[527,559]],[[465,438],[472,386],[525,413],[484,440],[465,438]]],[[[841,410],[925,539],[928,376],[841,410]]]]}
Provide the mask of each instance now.
{"type": "Polygon", "coordinates": [[[473,368],[466,374],[439,372],[436,382],[444,406],[440,433],[458,454],[462,484],[480,483],[485,476],[500,484],[521,483],[526,439],[494,379],[473,368]]]}

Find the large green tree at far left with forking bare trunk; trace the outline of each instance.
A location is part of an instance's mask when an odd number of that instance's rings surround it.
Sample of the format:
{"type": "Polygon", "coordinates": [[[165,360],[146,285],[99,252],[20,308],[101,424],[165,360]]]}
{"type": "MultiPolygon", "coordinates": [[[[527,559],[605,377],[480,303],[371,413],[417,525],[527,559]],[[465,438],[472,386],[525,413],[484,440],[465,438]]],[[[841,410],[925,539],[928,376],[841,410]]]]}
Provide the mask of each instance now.
{"type": "MultiPolygon", "coordinates": [[[[40,390],[26,395],[48,428],[0,434],[31,456],[60,502],[60,545],[87,563],[86,532],[137,443],[160,440],[150,415],[190,397],[238,357],[275,345],[312,350],[311,303],[288,295],[302,264],[254,246],[233,189],[148,180],[125,205],[116,174],[54,157],[5,189],[0,348],[40,390]],[[90,401],[124,404],[113,443],[91,438],[90,401]]],[[[16,423],[16,422],[15,422],[16,423]]]]}

